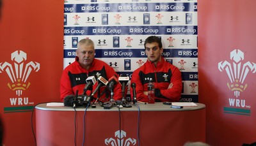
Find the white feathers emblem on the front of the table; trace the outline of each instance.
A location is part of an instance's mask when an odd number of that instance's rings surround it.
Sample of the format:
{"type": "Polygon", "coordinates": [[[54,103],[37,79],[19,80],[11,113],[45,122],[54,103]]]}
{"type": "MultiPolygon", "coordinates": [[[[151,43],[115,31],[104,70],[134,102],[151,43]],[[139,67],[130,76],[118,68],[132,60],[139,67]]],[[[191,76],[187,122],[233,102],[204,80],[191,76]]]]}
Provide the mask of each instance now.
{"type": "Polygon", "coordinates": [[[111,145],[111,146],[129,146],[129,145],[136,145],[136,139],[134,138],[126,138],[126,132],[125,131],[116,131],[114,138],[106,138],[105,144],[111,145]],[[126,139],[125,139],[126,138],[126,139]]]}

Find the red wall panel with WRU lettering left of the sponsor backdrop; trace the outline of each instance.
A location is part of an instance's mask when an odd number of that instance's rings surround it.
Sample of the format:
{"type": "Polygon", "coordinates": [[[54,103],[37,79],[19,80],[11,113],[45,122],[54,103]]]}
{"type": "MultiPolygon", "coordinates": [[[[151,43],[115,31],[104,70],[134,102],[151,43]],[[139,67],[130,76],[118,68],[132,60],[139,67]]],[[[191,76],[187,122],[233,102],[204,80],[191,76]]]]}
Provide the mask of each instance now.
{"type": "MultiPolygon", "coordinates": [[[[0,92],[1,117],[5,145],[35,145],[31,131],[31,110],[38,103],[60,101],[59,83],[63,70],[63,1],[3,1],[0,20],[0,92]],[[17,52],[12,57],[13,52],[17,52]],[[20,60],[19,60],[20,59],[20,60]],[[18,62],[18,63],[17,63],[18,62]],[[23,66],[22,66],[22,63],[23,66]],[[31,73],[21,95],[9,85],[17,85],[8,75],[31,73]],[[10,66],[5,66],[9,63],[10,66]],[[15,68],[15,63],[22,69],[15,68]],[[12,71],[11,71],[12,72],[12,71]]],[[[15,54],[15,53],[14,53],[15,54]]],[[[23,85],[22,84],[22,85],[23,85]]],[[[22,86],[21,85],[21,86],[22,86]]],[[[12,86],[11,86],[12,87],[12,86]]]]}

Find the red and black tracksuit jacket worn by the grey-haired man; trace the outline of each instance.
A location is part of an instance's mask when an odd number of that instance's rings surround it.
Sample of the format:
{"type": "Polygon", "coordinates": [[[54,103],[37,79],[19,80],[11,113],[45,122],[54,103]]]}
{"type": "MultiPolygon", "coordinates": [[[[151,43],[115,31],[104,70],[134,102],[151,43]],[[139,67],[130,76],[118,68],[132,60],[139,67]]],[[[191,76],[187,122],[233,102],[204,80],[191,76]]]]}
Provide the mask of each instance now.
{"type": "MultiPolygon", "coordinates": [[[[92,75],[97,75],[97,77],[102,76],[106,80],[109,80],[109,78],[113,77],[113,75],[116,75],[118,78],[118,74],[115,72],[111,66],[106,64],[104,61],[100,61],[99,59],[94,59],[92,66],[90,69],[86,70],[82,68],[78,62],[78,57],[76,57],[76,61],[72,62],[72,64],[68,65],[62,73],[61,80],[60,80],[60,96],[61,101],[68,96],[68,95],[75,95],[76,91],[78,90],[78,94],[83,94],[84,87],[86,85],[86,78],[90,77],[92,75]]],[[[97,78],[96,78],[97,79],[97,78]]],[[[97,83],[93,85],[92,91],[87,91],[86,95],[90,95],[95,88],[97,87],[97,83]]],[[[100,87],[100,92],[102,92],[105,89],[105,87],[100,87]]],[[[114,96],[113,98],[115,100],[122,99],[122,85],[116,84],[114,87],[114,96]]],[[[127,90],[126,90],[127,91],[127,90]]],[[[98,92],[93,96],[94,98],[97,98],[98,92]]],[[[105,95],[102,96],[104,98],[105,95]]],[[[109,99],[111,98],[109,94],[109,99]]]]}

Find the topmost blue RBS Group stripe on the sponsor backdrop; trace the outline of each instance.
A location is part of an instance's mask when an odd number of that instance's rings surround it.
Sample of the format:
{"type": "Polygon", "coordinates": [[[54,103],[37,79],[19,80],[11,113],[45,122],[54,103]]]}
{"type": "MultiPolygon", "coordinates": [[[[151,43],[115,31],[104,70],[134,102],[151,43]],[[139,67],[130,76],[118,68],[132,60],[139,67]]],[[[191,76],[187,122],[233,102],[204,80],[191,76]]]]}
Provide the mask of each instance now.
{"type": "Polygon", "coordinates": [[[65,4],[64,13],[197,11],[197,3],[108,3],[65,4]]]}

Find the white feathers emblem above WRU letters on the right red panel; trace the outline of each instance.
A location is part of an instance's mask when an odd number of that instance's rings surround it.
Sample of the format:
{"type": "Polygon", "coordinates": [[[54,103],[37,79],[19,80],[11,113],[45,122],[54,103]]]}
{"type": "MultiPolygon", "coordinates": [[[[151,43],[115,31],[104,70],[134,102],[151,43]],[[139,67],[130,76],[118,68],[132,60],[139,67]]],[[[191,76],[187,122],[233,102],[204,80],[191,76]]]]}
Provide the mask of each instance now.
{"type": "Polygon", "coordinates": [[[227,83],[227,86],[231,91],[234,91],[234,96],[237,98],[239,97],[240,92],[243,92],[248,86],[247,84],[244,84],[248,72],[256,72],[256,64],[249,61],[242,64],[244,53],[238,49],[230,52],[230,59],[233,61],[232,63],[221,61],[218,64],[218,68],[220,71],[226,71],[230,80],[230,83],[227,83]]]}

